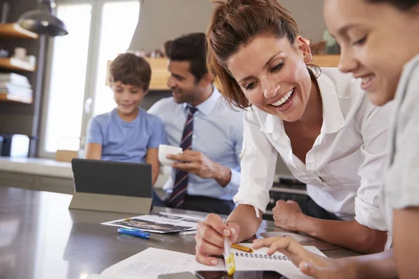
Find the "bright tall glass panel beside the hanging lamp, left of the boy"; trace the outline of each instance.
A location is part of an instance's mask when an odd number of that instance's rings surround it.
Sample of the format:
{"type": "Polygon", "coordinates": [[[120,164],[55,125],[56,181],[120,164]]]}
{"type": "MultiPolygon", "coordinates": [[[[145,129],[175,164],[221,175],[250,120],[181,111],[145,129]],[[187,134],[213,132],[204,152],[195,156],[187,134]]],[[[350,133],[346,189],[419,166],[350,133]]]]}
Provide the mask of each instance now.
{"type": "Polygon", "coordinates": [[[78,150],[91,21],[90,4],[59,4],[57,16],[68,36],[54,39],[43,149],[78,150]]]}

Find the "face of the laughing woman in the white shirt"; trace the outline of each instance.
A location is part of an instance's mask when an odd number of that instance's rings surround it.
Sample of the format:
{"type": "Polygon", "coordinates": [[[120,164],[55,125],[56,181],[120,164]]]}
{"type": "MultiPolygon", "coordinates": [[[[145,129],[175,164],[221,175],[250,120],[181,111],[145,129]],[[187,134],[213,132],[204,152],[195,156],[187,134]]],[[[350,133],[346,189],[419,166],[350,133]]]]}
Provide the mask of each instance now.
{"type": "Polygon", "coordinates": [[[230,56],[227,68],[252,105],[288,122],[304,113],[311,90],[309,46],[297,37],[257,36],[230,56]]]}

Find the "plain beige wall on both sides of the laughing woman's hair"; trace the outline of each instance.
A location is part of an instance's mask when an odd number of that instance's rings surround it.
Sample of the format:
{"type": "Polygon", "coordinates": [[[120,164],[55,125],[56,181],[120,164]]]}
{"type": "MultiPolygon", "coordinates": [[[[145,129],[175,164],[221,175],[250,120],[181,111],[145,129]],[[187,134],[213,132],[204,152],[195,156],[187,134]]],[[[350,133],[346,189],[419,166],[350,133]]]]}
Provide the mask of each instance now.
{"type": "MultiPolygon", "coordinates": [[[[280,0],[291,11],[302,35],[321,40],[325,23],[323,1],[280,0]]],[[[142,0],[140,20],[130,50],[151,51],[184,33],[205,32],[212,14],[210,0],[142,0]]]]}

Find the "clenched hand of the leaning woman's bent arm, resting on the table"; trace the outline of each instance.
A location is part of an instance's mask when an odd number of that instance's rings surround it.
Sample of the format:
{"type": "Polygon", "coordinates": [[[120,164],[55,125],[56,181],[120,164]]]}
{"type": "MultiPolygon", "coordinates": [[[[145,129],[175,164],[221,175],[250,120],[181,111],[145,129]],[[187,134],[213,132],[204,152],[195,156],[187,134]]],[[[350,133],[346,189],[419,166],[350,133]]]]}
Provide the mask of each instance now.
{"type": "Polygon", "coordinates": [[[298,223],[302,222],[304,213],[302,213],[300,206],[297,202],[292,200],[277,201],[274,209],[275,226],[288,229],[290,231],[297,231],[298,223]]]}

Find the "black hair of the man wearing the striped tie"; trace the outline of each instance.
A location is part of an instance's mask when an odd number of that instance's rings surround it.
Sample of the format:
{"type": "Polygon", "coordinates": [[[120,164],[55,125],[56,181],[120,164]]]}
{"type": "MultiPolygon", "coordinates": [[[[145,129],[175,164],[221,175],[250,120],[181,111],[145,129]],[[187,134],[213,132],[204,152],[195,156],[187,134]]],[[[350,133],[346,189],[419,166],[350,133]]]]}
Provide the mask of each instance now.
{"type": "Polygon", "coordinates": [[[196,78],[196,82],[208,73],[204,33],[190,33],[175,40],[168,40],[164,43],[164,52],[171,61],[189,61],[189,71],[196,78]]]}

